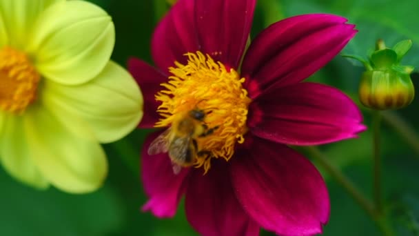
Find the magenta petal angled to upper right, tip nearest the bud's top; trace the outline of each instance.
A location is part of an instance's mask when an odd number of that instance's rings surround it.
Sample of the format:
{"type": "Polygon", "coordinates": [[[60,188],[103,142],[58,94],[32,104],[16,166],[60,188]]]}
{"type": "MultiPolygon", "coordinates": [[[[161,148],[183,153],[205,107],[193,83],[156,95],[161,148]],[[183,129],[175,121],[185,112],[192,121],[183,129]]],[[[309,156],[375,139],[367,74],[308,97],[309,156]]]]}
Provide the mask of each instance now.
{"type": "Polygon", "coordinates": [[[346,21],[331,14],[304,14],[266,28],[243,59],[250,97],[298,83],[325,66],[356,33],[346,21]]]}

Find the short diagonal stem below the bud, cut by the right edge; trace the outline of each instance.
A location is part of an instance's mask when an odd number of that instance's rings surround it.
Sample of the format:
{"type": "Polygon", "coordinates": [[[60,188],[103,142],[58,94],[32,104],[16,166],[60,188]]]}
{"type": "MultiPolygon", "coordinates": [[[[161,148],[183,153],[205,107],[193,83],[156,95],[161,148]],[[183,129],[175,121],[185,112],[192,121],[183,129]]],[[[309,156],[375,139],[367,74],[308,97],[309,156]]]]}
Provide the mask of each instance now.
{"type": "Polygon", "coordinates": [[[398,135],[405,139],[406,143],[415,151],[419,157],[419,135],[415,129],[407,123],[400,115],[393,111],[381,112],[382,121],[393,127],[398,135]]]}

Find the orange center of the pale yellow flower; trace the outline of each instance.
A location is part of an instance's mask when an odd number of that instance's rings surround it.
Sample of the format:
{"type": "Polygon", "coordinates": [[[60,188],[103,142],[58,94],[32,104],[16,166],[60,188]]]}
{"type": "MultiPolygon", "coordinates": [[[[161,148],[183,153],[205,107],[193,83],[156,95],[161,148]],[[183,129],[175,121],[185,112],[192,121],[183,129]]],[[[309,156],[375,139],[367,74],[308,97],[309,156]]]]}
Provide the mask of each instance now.
{"type": "Polygon", "coordinates": [[[0,108],[21,113],[36,99],[41,76],[23,53],[0,50],[0,108]]]}

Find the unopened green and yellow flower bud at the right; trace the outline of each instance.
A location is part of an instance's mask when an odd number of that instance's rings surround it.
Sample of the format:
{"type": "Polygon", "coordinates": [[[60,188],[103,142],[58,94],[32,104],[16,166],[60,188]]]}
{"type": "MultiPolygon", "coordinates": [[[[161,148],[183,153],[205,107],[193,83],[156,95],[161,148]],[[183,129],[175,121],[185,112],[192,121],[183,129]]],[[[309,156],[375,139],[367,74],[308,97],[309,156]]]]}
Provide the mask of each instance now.
{"type": "Polygon", "coordinates": [[[413,101],[415,90],[410,78],[413,67],[400,66],[410,48],[410,40],[400,41],[391,49],[378,40],[369,61],[346,56],[361,61],[367,69],[362,73],[359,86],[359,99],[364,106],[375,110],[398,109],[413,101]]]}

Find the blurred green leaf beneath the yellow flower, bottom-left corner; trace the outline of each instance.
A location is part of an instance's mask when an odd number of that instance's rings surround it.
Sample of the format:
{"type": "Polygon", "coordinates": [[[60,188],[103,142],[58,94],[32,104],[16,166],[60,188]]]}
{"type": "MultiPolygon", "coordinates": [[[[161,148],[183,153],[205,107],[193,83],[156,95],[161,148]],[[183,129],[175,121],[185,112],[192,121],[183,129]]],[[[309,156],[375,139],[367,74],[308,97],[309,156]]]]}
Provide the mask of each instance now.
{"type": "Polygon", "coordinates": [[[125,221],[118,195],[106,186],[88,195],[34,190],[0,168],[1,235],[110,235],[125,221]]]}

